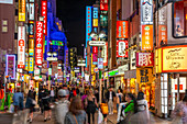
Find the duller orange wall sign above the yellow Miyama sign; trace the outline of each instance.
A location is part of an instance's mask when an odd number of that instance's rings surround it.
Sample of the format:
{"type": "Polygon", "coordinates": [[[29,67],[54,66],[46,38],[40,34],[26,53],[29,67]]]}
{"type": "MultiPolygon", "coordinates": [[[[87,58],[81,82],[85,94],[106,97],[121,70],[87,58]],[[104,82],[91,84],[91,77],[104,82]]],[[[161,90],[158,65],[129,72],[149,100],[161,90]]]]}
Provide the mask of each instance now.
{"type": "Polygon", "coordinates": [[[158,25],[158,47],[161,46],[162,41],[164,44],[167,44],[167,25],[158,25]]]}

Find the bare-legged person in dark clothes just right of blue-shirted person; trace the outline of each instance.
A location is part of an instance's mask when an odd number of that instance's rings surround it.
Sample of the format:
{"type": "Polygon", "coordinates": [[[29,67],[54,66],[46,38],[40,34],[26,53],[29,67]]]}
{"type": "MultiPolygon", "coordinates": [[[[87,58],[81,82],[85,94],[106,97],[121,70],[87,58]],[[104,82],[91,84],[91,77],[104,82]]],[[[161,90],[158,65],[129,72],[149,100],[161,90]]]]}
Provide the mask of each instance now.
{"type": "Polygon", "coordinates": [[[32,123],[33,120],[33,111],[34,111],[34,106],[35,106],[35,100],[33,99],[33,93],[28,93],[28,98],[26,98],[26,103],[25,103],[25,108],[30,109],[30,119],[29,122],[32,123]]]}

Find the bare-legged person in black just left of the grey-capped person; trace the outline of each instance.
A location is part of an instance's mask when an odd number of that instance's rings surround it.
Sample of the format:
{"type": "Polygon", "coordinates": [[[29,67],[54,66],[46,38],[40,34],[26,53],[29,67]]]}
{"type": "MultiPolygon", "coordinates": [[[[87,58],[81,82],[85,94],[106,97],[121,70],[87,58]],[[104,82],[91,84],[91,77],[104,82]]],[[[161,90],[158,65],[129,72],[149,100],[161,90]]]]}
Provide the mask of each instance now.
{"type": "Polygon", "coordinates": [[[44,122],[47,120],[51,120],[52,113],[51,113],[51,99],[50,99],[50,93],[45,92],[44,97],[42,98],[42,103],[44,105],[44,122]]]}

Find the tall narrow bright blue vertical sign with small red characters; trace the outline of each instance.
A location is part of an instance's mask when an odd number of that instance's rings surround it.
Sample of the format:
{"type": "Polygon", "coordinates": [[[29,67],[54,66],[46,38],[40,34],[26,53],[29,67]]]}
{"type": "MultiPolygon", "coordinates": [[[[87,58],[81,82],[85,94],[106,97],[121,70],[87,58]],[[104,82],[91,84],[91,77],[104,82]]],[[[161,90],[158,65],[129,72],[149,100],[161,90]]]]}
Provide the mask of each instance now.
{"type": "Polygon", "coordinates": [[[91,41],[91,37],[89,36],[91,30],[91,7],[86,7],[86,47],[87,43],[91,41]]]}

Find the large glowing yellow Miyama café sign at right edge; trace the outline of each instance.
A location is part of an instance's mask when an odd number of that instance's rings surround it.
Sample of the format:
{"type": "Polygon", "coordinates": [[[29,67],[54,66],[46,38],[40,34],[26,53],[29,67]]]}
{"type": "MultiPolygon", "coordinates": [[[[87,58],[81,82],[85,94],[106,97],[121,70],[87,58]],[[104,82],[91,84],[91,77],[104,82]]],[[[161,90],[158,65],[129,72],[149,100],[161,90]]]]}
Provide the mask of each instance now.
{"type": "Polygon", "coordinates": [[[163,72],[187,71],[187,45],[163,48],[163,72]]]}

